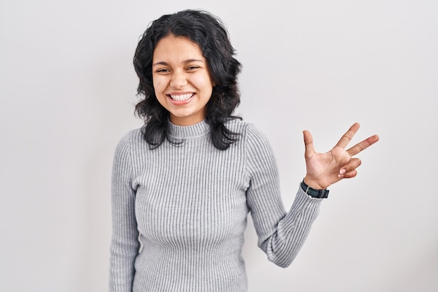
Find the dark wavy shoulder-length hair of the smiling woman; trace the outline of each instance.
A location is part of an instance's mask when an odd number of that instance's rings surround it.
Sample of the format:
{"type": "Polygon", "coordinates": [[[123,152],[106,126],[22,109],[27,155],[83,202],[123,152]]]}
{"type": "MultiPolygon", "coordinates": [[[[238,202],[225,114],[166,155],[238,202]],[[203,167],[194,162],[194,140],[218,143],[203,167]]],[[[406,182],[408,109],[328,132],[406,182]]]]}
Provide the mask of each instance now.
{"type": "MultiPolygon", "coordinates": [[[[206,104],[206,123],[210,126],[213,145],[226,150],[239,139],[239,133],[225,127],[225,122],[239,118],[232,113],[240,103],[237,75],[241,64],[229,41],[227,29],[215,15],[206,11],[185,10],[163,15],[151,22],[143,33],[134,55],[134,68],[139,76],[138,95],[144,95],[135,106],[136,114],[143,118],[141,131],[150,148],[157,148],[169,137],[169,111],[158,102],[153,87],[152,60],[155,46],[165,36],[183,36],[197,43],[206,59],[211,75],[213,92],[206,104]]],[[[241,119],[241,118],[240,118],[241,119]]]]}

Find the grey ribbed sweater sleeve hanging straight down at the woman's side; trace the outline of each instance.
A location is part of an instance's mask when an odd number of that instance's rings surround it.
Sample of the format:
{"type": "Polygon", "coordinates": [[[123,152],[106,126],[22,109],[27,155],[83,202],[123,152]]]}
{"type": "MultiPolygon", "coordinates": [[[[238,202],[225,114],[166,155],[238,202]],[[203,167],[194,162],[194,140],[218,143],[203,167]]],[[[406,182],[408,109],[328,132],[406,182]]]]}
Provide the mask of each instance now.
{"type": "Polygon", "coordinates": [[[132,188],[132,160],[129,134],[115,148],[111,178],[113,235],[111,238],[109,291],[131,292],[134,260],[139,252],[135,217],[135,190],[132,188]]]}

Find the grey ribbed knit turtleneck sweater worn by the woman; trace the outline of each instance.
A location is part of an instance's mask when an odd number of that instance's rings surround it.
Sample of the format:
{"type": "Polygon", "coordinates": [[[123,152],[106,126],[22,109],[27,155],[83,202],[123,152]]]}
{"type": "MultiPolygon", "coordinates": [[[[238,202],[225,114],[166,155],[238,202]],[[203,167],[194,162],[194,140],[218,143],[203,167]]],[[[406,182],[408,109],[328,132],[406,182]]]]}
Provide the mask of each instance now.
{"type": "Polygon", "coordinates": [[[289,212],[266,137],[232,120],[241,133],[226,151],[215,148],[205,121],[171,124],[171,138],[151,150],[133,130],[115,150],[112,176],[111,292],[246,292],[241,256],[250,212],[258,246],[290,265],[321,200],[301,188],[289,212]]]}

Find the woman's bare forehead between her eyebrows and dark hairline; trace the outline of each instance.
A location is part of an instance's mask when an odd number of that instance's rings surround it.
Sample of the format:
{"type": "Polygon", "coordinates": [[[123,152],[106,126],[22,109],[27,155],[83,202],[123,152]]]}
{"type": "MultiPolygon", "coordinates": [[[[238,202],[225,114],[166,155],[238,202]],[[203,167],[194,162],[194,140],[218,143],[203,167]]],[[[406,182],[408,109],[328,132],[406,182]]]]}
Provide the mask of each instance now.
{"type": "Polygon", "coordinates": [[[165,36],[158,41],[153,53],[153,62],[194,58],[204,60],[202,50],[197,43],[183,36],[165,36]]]}

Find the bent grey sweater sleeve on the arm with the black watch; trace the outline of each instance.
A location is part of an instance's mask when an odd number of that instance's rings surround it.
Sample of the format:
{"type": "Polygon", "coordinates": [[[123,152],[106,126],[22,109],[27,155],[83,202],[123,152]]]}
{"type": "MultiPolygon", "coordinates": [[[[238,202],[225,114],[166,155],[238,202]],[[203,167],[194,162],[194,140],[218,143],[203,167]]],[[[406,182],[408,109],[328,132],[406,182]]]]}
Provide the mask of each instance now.
{"type": "Polygon", "coordinates": [[[286,212],[281,200],[274,153],[263,134],[252,125],[246,133],[247,171],[250,186],[247,203],[258,237],[258,246],[268,259],[281,267],[292,263],[318,216],[321,199],[299,188],[286,212]]]}

